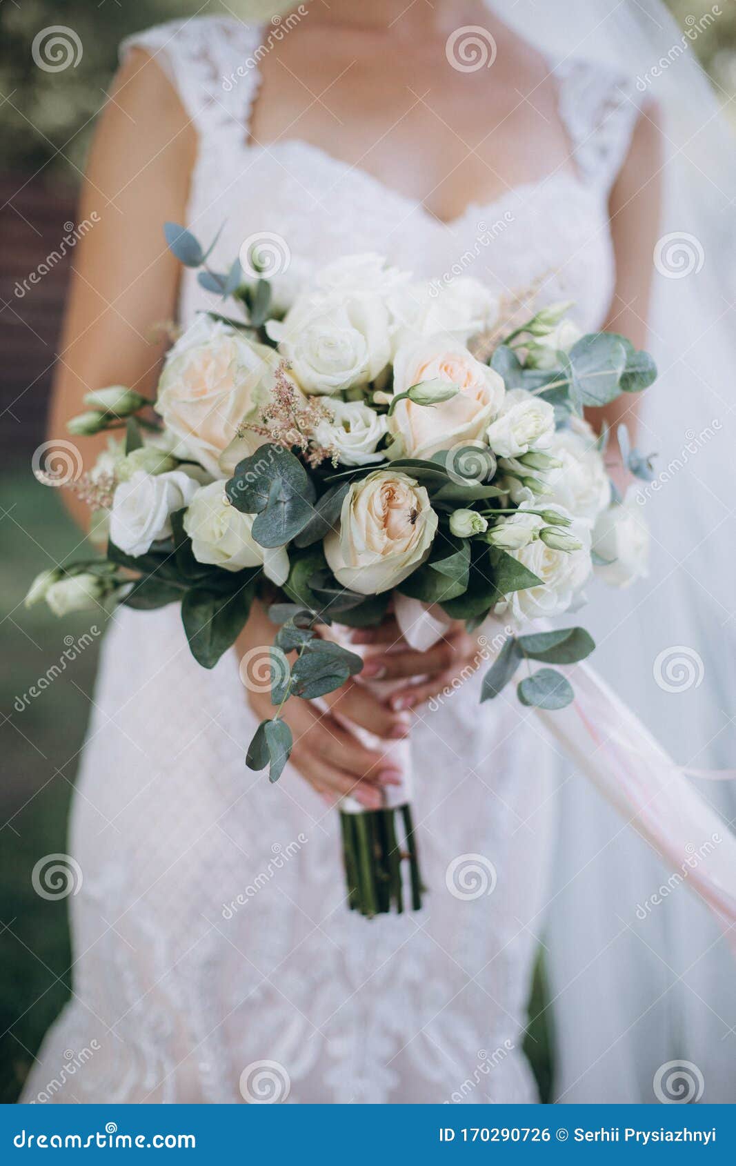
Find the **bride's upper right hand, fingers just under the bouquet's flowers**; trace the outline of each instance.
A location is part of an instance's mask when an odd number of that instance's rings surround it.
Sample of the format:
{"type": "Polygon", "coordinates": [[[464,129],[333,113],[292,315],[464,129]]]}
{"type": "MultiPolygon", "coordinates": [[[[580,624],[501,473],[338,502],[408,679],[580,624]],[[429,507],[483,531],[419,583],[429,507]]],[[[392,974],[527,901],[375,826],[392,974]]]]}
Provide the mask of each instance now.
{"type": "Polygon", "coordinates": [[[378,627],[353,632],[351,639],[353,644],[377,647],[376,652],[365,658],[360,675],[366,680],[408,681],[390,697],[390,705],[397,712],[415,709],[444,689],[456,688],[485,659],[479,641],[465,631],[461,620],[454,620],[442,638],[426,652],[415,652],[408,647],[393,617],[385,619],[378,627]],[[416,676],[425,679],[416,682],[416,676]]]}

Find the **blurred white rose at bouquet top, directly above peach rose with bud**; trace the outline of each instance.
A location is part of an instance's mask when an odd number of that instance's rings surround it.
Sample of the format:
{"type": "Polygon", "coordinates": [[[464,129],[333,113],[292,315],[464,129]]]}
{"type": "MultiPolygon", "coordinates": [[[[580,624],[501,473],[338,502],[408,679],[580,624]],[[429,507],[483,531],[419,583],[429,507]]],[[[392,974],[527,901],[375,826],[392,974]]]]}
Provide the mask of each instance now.
{"type": "Polygon", "coordinates": [[[411,283],[388,296],[394,352],[420,336],[443,335],[465,342],[498,318],[498,297],[479,280],[462,276],[449,283],[411,283]]]}

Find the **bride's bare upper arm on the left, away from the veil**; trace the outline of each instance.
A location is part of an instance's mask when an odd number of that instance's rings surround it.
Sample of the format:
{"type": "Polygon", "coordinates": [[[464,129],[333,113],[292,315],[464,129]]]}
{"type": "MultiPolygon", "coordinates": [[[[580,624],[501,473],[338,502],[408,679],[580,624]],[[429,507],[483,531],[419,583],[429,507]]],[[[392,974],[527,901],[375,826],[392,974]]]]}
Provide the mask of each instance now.
{"type": "MultiPolygon", "coordinates": [[[[68,436],[66,421],[83,412],[90,389],[127,385],[153,395],[166,339],[152,338],[152,325],[174,316],[178,279],[162,224],[184,220],[195,153],[196,133],[163,72],[146,52],[131,52],[97,126],[82,188],[79,222],[94,225],[75,253],[51,437],[68,436]]],[[[85,469],[105,441],[78,440],[85,469]]],[[[63,493],[86,525],[87,507],[63,493]]]]}

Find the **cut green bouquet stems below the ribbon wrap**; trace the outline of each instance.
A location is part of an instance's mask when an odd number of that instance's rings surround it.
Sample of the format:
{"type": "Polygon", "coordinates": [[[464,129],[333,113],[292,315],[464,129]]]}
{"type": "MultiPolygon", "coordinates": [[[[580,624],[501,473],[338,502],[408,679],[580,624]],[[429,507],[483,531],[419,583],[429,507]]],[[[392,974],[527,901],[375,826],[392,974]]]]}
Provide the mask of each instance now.
{"type": "Polygon", "coordinates": [[[401,914],[406,888],[412,911],[420,911],[423,886],[411,806],[341,812],[339,821],[350,909],[369,919],[401,914]]]}

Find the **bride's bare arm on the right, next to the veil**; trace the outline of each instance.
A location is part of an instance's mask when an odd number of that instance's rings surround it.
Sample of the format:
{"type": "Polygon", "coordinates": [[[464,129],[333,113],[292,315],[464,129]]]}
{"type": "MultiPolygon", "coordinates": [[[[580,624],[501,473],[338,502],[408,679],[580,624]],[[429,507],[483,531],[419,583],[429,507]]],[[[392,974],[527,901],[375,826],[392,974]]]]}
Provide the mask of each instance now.
{"type": "MultiPolygon", "coordinates": [[[[631,147],[609,202],[616,287],[609,317],[603,325],[605,331],[626,336],[637,349],[647,345],[649,301],[654,271],[652,257],[659,237],[660,201],[661,134],[657,108],[647,106],[636,125],[631,147]]],[[[624,393],[603,409],[587,410],[587,415],[596,430],[605,420],[615,434],[616,426],[623,421],[633,436],[638,403],[636,393],[624,393]]],[[[618,456],[618,443],[614,440],[608,459],[616,461],[618,456]]]]}

